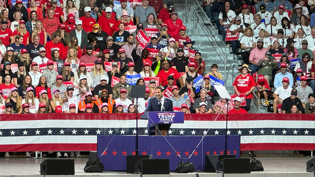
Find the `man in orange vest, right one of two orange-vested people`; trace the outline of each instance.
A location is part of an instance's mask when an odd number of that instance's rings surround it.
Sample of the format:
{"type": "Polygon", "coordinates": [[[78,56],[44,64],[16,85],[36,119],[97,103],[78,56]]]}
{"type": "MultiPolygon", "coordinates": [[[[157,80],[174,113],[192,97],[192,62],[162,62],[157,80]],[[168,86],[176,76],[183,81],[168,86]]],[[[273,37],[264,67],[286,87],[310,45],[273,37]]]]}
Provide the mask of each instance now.
{"type": "MultiPolygon", "coordinates": [[[[94,105],[96,105],[98,107],[98,109],[97,109],[98,112],[101,112],[102,103],[108,103],[109,113],[113,113],[116,110],[116,102],[115,102],[115,100],[109,98],[108,90],[106,90],[106,89],[102,89],[100,92],[100,98],[98,98],[97,100],[94,101],[94,105]]],[[[93,111],[94,112],[96,111],[94,109],[94,106],[93,106],[93,111]]]]}

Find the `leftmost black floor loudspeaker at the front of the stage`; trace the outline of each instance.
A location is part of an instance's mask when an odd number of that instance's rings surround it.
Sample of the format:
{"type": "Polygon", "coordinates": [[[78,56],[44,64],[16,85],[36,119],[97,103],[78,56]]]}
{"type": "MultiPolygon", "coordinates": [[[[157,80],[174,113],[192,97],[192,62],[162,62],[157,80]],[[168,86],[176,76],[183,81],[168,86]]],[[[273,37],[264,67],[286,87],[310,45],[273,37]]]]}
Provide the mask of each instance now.
{"type": "Polygon", "coordinates": [[[40,163],[40,174],[74,175],[74,159],[46,159],[40,163]]]}

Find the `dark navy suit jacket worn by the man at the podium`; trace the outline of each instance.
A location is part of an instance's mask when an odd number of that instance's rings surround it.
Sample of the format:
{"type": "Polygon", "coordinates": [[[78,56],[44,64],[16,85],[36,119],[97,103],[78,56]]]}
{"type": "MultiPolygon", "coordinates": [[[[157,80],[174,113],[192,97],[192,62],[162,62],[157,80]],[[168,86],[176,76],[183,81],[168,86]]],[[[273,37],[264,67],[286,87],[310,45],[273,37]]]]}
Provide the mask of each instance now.
{"type": "MultiPolygon", "coordinates": [[[[173,101],[170,98],[164,97],[164,103],[163,103],[163,111],[174,111],[173,109],[173,101]]],[[[148,104],[145,108],[145,112],[148,111],[161,111],[159,109],[159,101],[158,98],[152,97],[149,99],[148,104]]],[[[147,130],[148,130],[148,135],[154,135],[155,133],[155,126],[154,124],[149,124],[147,125],[147,130]]]]}

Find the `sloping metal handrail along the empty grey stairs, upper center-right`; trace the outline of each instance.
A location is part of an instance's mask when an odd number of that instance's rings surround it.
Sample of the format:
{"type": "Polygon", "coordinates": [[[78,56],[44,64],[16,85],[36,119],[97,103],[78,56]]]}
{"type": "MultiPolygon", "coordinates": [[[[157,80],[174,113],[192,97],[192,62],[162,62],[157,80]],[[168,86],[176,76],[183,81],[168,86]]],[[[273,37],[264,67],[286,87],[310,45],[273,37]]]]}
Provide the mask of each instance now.
{"type": "MultiPolygon", "coordinates": [[[[204,29],[204,30],[206,31],[206,33],[208,34],[208,37],[211,37],[211,39],[213,40],[213,42],[214,42],[214,44],[215,44],[215,47],[216,47],[216,48],[219,50],[219,52],[221,53],[221,56],[224,56],[224,81],[225,81],[225,84],[226,84],[226,81],[227,81],[227,72],[226,72],[226,65],[227,65],[227,49],[226,49],[225,41],[223,41],[223,40],[220,38],[218,32],[216,31],[215,27],[214,27],[213,24],[211,23],[211,20],[209,20],[209,18],[207,17],[207,15],[206,15],[205,12],[203,11],[203,9],[201,8],[201,6],[200,6],[200,4],[199,4],[199,2],[198,2],[197,0],[195,0],[193,7],[194,7],[194,18],[193,18],[193,21],[194,21],[194,22],[193,22],[193,24],[196,25],[196,23],[195,23],[195,15],[197,15],[199,21],[202,22],[201,24],[202,24],[202,26],[204,27],[203,29],[204,29]],[[203,14],[204,14],[206,20],[208,21],[207,23],[211,24],[213,31],[215,31],[215,35],[212,34],[212,31],[207,30],[207,27],[204,25],[203,19],[199,16],[199,14],[198,14],[197,11],[196,11],[196,7],[195,7],[196,3],[197,3],[197,5],[198,5],[198,7],[199,7],[198,9],[200,9],[201,12],[203,12],[203,14]],[[219,37],[221,45],[224,46],[224,51],[222,51],[222,46],[220,47],[220,44],[219,44],[219,45],[217,44],[217,40],[214,38],[215,36],[218,36],[218,37],[219,37]]],[[[186,11],[185,11],[185,22],[187,23],[187,0],[186,0],[186,9],[185,9],[185,10],[186,10],[186,11]]],[[[195,29],[194,29],[193,33],[195,34],[195,29]]],[[[219,57],[220,57],[220,55],[219,55],[219,57]]]]}

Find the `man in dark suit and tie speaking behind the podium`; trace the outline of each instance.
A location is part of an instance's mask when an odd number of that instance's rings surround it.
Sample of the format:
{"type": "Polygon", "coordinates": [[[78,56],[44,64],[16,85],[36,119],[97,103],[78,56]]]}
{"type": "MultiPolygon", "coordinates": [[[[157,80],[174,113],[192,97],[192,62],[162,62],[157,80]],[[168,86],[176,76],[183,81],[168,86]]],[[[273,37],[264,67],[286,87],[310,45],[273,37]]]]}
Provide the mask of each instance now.
{"type": "MultiPolygon", "coordinates": [[[[173,101],[164,96],[164,87],[155,88],[155,97],[149,99],[145,111],[173,111],[173,101]]],[[[162,135],[167,136],[171,124],[156,124],[162,135]]],[[[147,125],[148,135],[158,135],[158,130],[153,124],[147,125]]]]}

